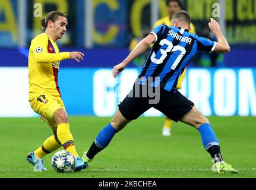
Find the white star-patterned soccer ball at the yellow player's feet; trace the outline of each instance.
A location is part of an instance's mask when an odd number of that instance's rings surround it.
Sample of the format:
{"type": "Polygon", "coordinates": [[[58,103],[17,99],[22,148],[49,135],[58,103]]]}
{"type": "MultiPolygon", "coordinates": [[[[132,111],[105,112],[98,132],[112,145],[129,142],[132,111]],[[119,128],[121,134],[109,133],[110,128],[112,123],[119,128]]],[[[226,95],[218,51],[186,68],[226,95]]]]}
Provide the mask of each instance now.
{"type": "Polygon", "coordinates": [[[60,150],[52,157],[52,167],[56,172],[72,172],[75,167],[75,157],[67,150],[60,150]]]}

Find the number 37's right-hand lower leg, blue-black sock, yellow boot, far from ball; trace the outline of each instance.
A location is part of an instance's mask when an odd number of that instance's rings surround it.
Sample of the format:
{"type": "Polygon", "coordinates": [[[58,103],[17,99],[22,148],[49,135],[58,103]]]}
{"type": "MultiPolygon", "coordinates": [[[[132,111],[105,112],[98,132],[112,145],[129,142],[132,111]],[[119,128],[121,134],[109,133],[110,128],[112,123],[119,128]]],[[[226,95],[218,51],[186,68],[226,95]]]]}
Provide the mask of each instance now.
{"type": "Polygon", "coordinates": [[[197,107],[194,106],[181,121],[194,126],[200,132],[204,148],[208,151],[214,161],[213,172],[238,173],[238,170],[233,169],[230,164],[224,162],[222,154],[220,153],[219,141],[217,140],[213,129],[211,129],[208,119],[203,116],[197,107]]]}

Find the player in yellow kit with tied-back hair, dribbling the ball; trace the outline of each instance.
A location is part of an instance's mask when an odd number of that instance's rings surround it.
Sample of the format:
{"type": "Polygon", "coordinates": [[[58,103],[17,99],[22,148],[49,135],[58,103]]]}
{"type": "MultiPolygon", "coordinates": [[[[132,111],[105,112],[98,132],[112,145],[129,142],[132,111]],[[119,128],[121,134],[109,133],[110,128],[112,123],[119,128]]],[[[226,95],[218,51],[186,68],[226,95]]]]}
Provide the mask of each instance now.
{"type": "Polygon", "coordinates": [[[29,102],[41,119],[48,121],[53,135],[27,155],[34,171],[46,170],[42,158],[63,146],[75,157],[74,171],[87,167],[75,150],[72,134],[69,130],[68,115],[61,99],[58,85],[60,61],[64,59],[83,60],[81,52],[59,52],[56,40],[61,39],[67,30],[67,15],[62,12],[49,12],[41,20],[45,33],[39,34],[31,41],[29,49],[29,102]]]}

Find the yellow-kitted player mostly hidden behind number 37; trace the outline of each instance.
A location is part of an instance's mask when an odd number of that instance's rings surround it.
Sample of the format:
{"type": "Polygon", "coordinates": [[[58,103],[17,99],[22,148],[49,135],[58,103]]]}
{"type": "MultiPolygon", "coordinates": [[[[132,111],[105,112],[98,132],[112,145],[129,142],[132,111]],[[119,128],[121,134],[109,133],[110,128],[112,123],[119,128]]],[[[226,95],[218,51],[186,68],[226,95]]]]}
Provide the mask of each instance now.
{"type": "MultiPolygon", "coordinates": [[[[166,5],[167,5],[167,11],[169,15],[156,21],[156,23],[154,23],[153,28],[161,24],[166,24],[167,26],[171,26],[172,15],[174,15],[178,11],[181,11],[182,9],[182,5],[179,0],[167,0],[166,5]]],[[[195,26],[192,23],[190,23],[189,33],[195,34],[195,26]]],[[[181,89],[181,84],[182,84],[182,81],[184,80],[185,73],[186,73],[186,69],[184,69],[184,72],[181,74],[181,77],[179,77],[178,84],[176,86],[178,90],[181,89]]],[[[165,124],[163,125],[163,132],[162,132],[164,136],[170,136],[171,123],[172,123],[172,120],[166,117],[165,124]]]]}

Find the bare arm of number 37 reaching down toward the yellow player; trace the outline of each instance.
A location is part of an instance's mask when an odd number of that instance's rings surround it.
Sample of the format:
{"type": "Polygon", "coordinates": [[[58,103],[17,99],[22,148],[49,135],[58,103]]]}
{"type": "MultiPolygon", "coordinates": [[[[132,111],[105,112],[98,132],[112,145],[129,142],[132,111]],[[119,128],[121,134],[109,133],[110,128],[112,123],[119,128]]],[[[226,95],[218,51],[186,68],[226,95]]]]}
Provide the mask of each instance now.
{"type": "Polygon", "coordinates": [[[131,53],[129,53],[129,55],[127,56],[127,58],[125,58],[123,62],[113,67],[113,70],[112,70],[113,77],[116,78],[116,76],[124,70],[125,66],[127,66],[129,62],[137,58],[137,56],[141,55],[141,53],[145,52],[148,49],[148,47],[151,45],[151,43],[154,43],[155,41],[156,41],[156,37],[154,36],[153,33],[150,33],[147,37],[141,40],[134,47],[131,53]]]}

